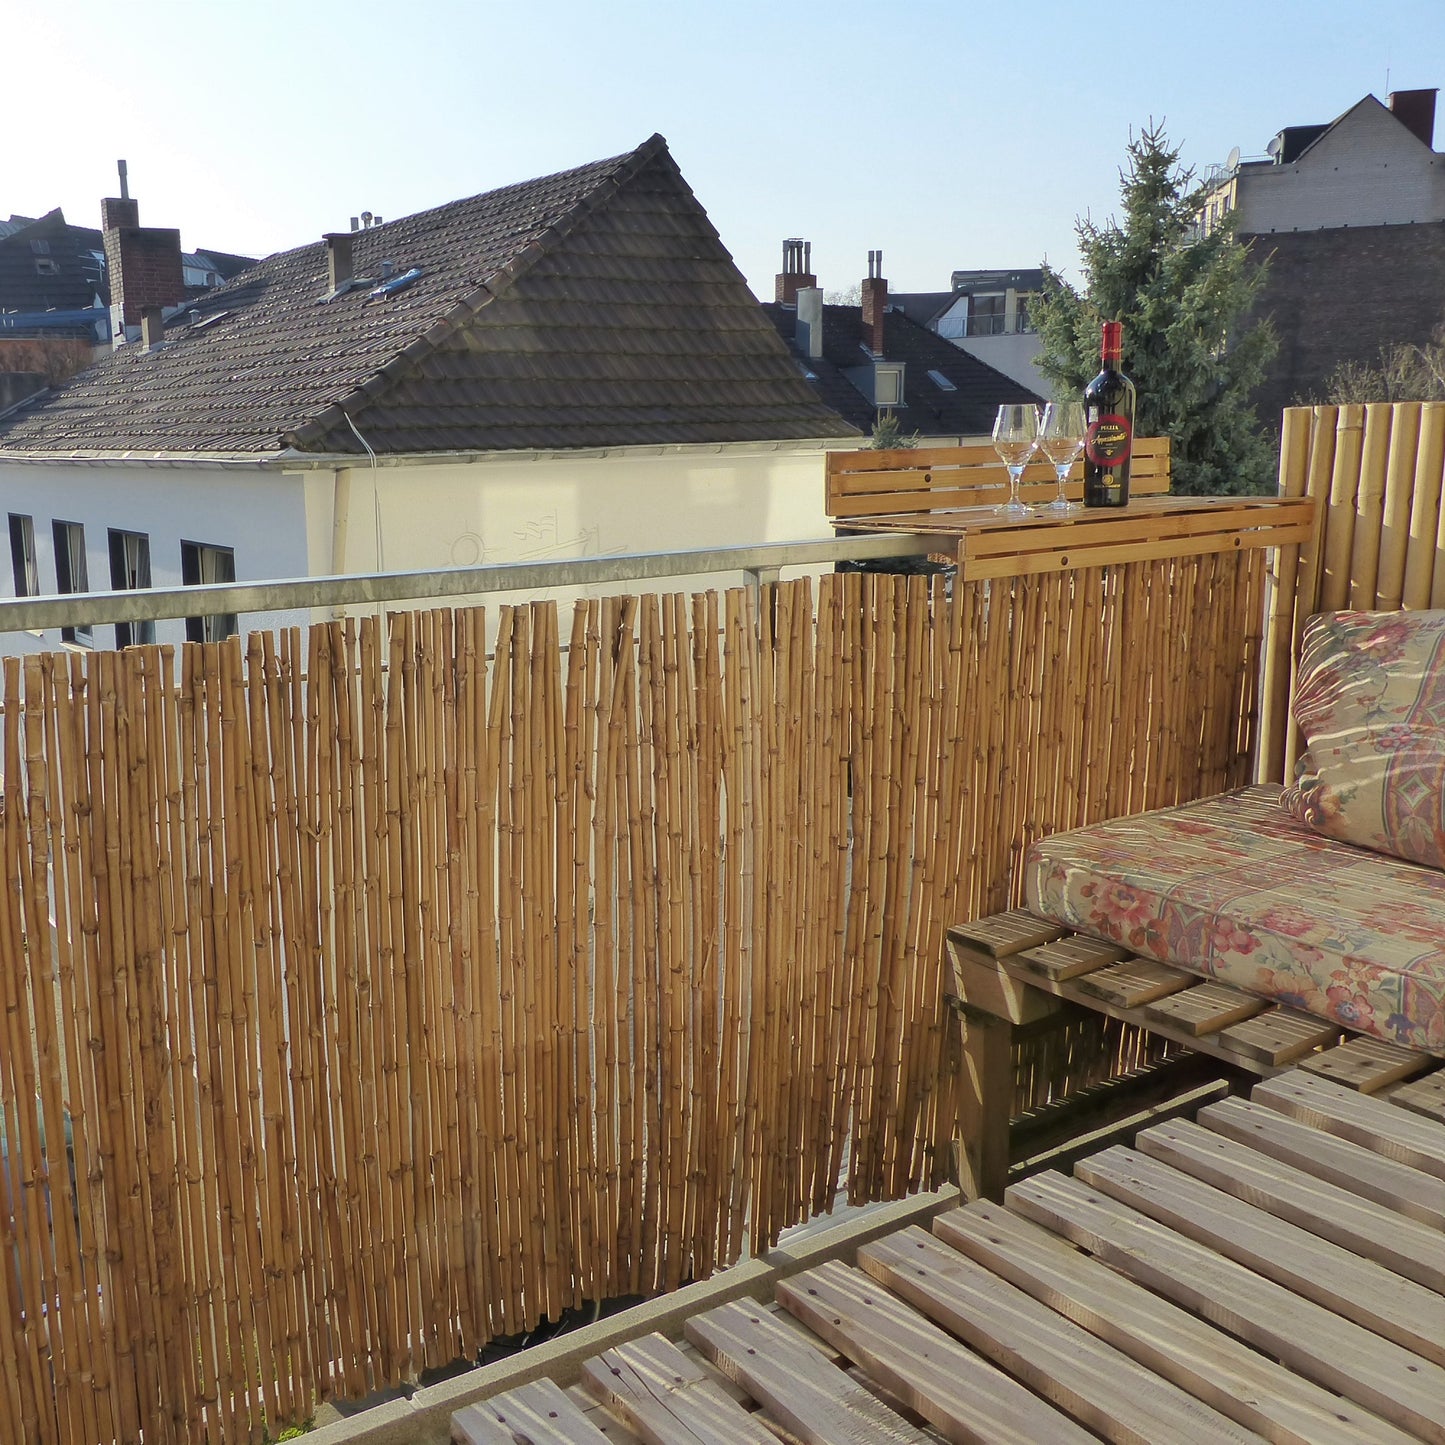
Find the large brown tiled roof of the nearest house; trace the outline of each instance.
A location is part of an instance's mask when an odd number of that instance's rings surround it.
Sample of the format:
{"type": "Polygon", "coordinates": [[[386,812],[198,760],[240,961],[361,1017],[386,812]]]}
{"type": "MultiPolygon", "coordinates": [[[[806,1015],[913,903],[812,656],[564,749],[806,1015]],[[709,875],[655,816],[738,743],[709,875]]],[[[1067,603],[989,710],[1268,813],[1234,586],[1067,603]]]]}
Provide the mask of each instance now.
{"type": "Polygon", "coordinates": [[[848,435],[757,309],[666,142],[272,256],[0,420],[0,454],[500,451],[848,435]],[[355,428],[355,431],[353,429],[355,428]]]}

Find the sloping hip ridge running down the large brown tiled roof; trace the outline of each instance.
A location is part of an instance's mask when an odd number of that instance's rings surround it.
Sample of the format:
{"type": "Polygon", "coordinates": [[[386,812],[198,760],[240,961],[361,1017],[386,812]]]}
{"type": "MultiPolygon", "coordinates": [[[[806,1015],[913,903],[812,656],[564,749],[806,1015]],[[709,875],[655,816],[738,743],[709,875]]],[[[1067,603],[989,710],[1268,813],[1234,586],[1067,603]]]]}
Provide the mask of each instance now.
{"type": "MultiPolygon", "coordinates": [[[[510,290],[543,256],[551,254],[565,241],[600,205],[610,201],[629,181],[636,176],[657,155],[668,155],[668,142],[653,131],[640,146],[613,158],[608,171],[598,176],[591,189],[579,195],[566,211],[551,225],[543,227],[532,240],[507,262],[490,272],[487,277],[461,296],[451,311],[438,316],[419,337],[409,341],[396,355],[383,361],[370,376],[358,381],[350,392],[324,407],[315,416],[282,434],[282,442],[298,449],[321,441],[334,428],[347,422],[353,425],[351,409],[364,409],[379,400],[403,373],[420,366],[426,357],[461,327],[473,321],[481,309],[497,296],[510,290]],[[499,283],[500,277],[500,283],[499,283]],[[360,406],[357,403],[360,402],[360,406]]],[[[605,165],[605,162],[604,162],[605,165]]],[[[578,168],[585,169],[585,168],[578,168]]],[[[565,175],[565,171],[556,175],[565,175]]],[[[526,182],[523,182],[526,184],[526,182]]],[[[506,189],[504,186],[501,189],[506,189]]],[[[457,204],[457,202],[452,202],[457,204]]],[[[425,212],[418,212],[425,214],[425,212]]]]}

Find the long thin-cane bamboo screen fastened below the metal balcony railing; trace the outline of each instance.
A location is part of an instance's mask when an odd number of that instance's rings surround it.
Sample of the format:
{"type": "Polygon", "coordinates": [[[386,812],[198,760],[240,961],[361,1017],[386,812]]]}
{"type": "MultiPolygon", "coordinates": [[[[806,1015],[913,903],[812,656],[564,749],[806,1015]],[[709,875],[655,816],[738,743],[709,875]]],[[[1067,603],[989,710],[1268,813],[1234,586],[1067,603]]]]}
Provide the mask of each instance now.
{"type": "Polygon", "coordinates": [[[1243,780],[1261,591],[1251,551],[7,659],[0,1436],[257,1439],[840,1172],[939,1179],[945,925],[1038,832],[1243,780]]]}

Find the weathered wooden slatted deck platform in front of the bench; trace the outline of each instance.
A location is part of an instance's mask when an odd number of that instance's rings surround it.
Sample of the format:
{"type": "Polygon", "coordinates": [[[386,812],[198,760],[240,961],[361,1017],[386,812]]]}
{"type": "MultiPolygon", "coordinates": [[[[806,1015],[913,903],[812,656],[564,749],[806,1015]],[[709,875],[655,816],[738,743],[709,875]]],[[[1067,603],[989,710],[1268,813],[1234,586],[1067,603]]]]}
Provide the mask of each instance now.
{"type": "Polygon", "coordinates": [[[452,1438],[1445,1441],[1445,1121],[1415,1107],[1442,1084],[1274,1072],[681,1340],[618,1316],[579,1380],[470,1405],[452,1438]]]}

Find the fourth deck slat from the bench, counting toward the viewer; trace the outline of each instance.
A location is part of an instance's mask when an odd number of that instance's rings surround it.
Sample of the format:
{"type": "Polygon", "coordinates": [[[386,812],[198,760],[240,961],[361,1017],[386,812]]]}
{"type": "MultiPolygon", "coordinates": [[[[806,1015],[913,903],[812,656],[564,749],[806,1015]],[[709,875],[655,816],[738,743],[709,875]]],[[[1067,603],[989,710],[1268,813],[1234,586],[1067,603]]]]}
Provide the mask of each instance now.
{"type": "Polygon", "coordinates": [[[1300,1298],[1426,1360],[1445,1364],[1445,1296],[1400,1279],[1354,1248],[1335,1244],[1267,1207],[1205,1183],[1189,1170],[1192,1156],[1181,1157],[1176,1150],[1159,1147],[1163,1137],[1157,1130],[1147,1130],[1139,1136],[1139,1150],[1107,1149],[1079,1160],[1074,1173],[1120,1204],[1285,1285],[1300,1298]]]}

